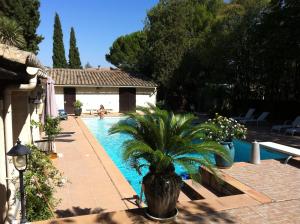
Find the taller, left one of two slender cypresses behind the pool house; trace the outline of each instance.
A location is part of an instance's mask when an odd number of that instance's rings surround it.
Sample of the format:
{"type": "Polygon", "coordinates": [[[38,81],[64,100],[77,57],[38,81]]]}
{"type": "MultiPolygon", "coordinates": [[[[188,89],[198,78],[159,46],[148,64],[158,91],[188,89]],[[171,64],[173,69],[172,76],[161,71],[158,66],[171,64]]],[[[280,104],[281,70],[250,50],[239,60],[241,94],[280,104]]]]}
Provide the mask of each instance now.
{"type": "Polygon", "coordinates": [[[55,13],[55,21],[54,21],[52,61],[53,61],[53,68],[68,67],[66,56],[65,56],[65,47],[63,42],[61,23],[57,13],[55,13]]]}

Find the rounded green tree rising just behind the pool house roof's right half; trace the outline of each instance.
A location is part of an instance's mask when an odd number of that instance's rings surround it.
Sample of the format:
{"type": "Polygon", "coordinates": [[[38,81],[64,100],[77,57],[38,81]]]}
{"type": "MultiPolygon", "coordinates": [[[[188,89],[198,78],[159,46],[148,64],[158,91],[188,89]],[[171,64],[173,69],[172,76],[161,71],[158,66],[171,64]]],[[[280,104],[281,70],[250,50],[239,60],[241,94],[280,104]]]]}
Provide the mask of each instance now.
{"type": "Polygon", "coordinates": [[[145,73],[146,35],[143,31],[118,37],[106,54],[106,60],[116,67],[129,71],[145,73]]]}

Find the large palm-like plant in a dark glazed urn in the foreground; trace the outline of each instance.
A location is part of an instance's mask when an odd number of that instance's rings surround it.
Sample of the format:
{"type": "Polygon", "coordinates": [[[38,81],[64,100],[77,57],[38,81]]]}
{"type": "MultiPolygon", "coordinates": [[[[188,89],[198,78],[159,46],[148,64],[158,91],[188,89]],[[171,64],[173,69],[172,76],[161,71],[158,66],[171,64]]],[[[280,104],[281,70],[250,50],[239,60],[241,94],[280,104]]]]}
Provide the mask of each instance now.
{"type": "Polygon", "coordinates": [[[214,170],[210,152],[228,156],[217,142],[199,141],[208,125],[193,125],[194,115],[174,114],[153,105],[137,110],[139,113],[128,113],[127,119],[119,121],[109,132],[131,136],[123,145],[123,159],[139,173],[142,167],[149,167],[142,181],[146,214],[156,220],[169,219],[177,214],[182,184],[174,165],[181,165],[193,179],[199,180],[199,165],[214,170]]]}

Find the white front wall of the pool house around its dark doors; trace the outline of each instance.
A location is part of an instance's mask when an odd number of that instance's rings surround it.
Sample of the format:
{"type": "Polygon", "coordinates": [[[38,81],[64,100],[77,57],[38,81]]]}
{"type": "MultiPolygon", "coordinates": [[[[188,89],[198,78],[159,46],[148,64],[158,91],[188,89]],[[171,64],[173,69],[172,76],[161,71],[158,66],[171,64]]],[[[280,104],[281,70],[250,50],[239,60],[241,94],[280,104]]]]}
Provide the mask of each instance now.
{"type": "MultiPolygon", "coordinates": [[[[55,97],[58,109],[63,109],[63,87],[55,87],[55,97]]],[[[76,87],[76,100],[83,103],[83,113],[97,110],[101,104],[105,109],[119,112],[119,88],[117,87],[76,87]]],[[[136,105],[147,106],[148,102],[156,104],[156,88],[137,88],[136,105]]]]}

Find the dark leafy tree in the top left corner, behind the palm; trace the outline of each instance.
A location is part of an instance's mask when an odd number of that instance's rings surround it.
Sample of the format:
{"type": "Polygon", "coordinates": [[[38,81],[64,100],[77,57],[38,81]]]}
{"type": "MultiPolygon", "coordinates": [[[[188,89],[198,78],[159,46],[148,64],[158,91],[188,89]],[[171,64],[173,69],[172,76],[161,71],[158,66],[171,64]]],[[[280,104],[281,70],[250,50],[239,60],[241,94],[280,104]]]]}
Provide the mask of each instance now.
{"type": "Polygon", "coordinates": [[[0,0],[0,16],[15,20],[22,27],[25,45],[23,50],[37,53],[43,37],[36,33],[40,24],[39,0],[0,0]]]}

